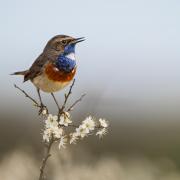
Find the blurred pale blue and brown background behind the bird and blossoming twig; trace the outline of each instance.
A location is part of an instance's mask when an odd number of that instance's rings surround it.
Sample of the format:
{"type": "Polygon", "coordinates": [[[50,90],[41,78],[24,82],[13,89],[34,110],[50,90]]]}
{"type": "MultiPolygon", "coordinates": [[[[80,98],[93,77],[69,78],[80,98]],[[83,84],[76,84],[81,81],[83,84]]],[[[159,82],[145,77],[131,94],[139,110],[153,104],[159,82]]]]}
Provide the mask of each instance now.
{"type": "Polygon", "coordinates": [[[0,180],[38,177],[42,121],[13,84],[36,91],[9,74],[27,69],[57,34],[86,37],[71,102],[87,96],[74,121],[105,117],[110,131],[102,141],[55,146],[47,179],[179,180],[179,9],[178,0],[1,1],[0,180]]]}

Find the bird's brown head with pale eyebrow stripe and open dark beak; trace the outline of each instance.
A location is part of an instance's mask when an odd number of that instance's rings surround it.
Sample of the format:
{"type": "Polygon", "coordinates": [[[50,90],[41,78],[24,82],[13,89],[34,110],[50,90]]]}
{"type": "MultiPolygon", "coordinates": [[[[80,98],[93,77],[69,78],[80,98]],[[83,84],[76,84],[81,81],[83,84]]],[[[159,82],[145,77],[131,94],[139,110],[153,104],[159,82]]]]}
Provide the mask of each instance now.
{"type": "Polygon", "coordinates": [[[53,53],[55,55],[68,55],[75,53],[75,46],[77,43],[84,41],[82,38],[73,38],[66,35],[57,35],[50,39],[44,48],[45,53],[53,53]]]}

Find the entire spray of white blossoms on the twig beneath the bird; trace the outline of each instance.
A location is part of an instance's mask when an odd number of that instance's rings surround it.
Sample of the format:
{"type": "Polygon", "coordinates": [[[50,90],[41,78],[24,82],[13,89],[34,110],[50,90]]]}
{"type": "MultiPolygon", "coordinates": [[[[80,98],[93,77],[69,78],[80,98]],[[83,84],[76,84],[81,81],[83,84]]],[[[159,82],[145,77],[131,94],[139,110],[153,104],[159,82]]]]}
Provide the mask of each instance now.
{"type": "MultiPolygon", "coordinates": [[[[47,112],[44,111],[43,114],[46,113],[47,112]]],[[[45,130],[43,132],[43,140],[45,142],[50,142],[51,138],[54,138],[54,140],[59,140],[59,149],[65,148],[68,139],[70,144],[76,144],[79,138],[88,136],[89,133],[92,133],[95,130],[95,128],[98,128],[96,136],[102,138],[104,135],[106,135],[107,127],[109,125],[108,121],[100,118],[98,120],[99,126],[96,127],[95,120],[92,118],[92,116],[88,116],[82,121],[79,127],[76,128],[75,132],[70,133],[69,136],[67,136],[63,130],[63,126],[67,127],[70,123],[72,123],[70,114],[68,112],[64,112],[60,116],[59,120],[60,121],[58,122],[58,116],[47,114],[47,119],[45,120],[45,130]]]]}

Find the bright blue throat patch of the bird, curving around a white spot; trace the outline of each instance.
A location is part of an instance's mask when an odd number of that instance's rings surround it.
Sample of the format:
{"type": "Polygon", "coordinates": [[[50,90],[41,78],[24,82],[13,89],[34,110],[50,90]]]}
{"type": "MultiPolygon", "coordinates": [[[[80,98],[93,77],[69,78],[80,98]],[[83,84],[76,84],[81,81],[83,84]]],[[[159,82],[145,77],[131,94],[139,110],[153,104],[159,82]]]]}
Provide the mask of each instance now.
{"type": "Polygon", "coordinates": [[[65,72],[71,72],[75,66],[76,61],[67,57],[68,54],[75,53],[75,45],[70,44],[64,48],[64,53],[60,54],[57,58],[56,66],[60,70],[65,72]]]}

